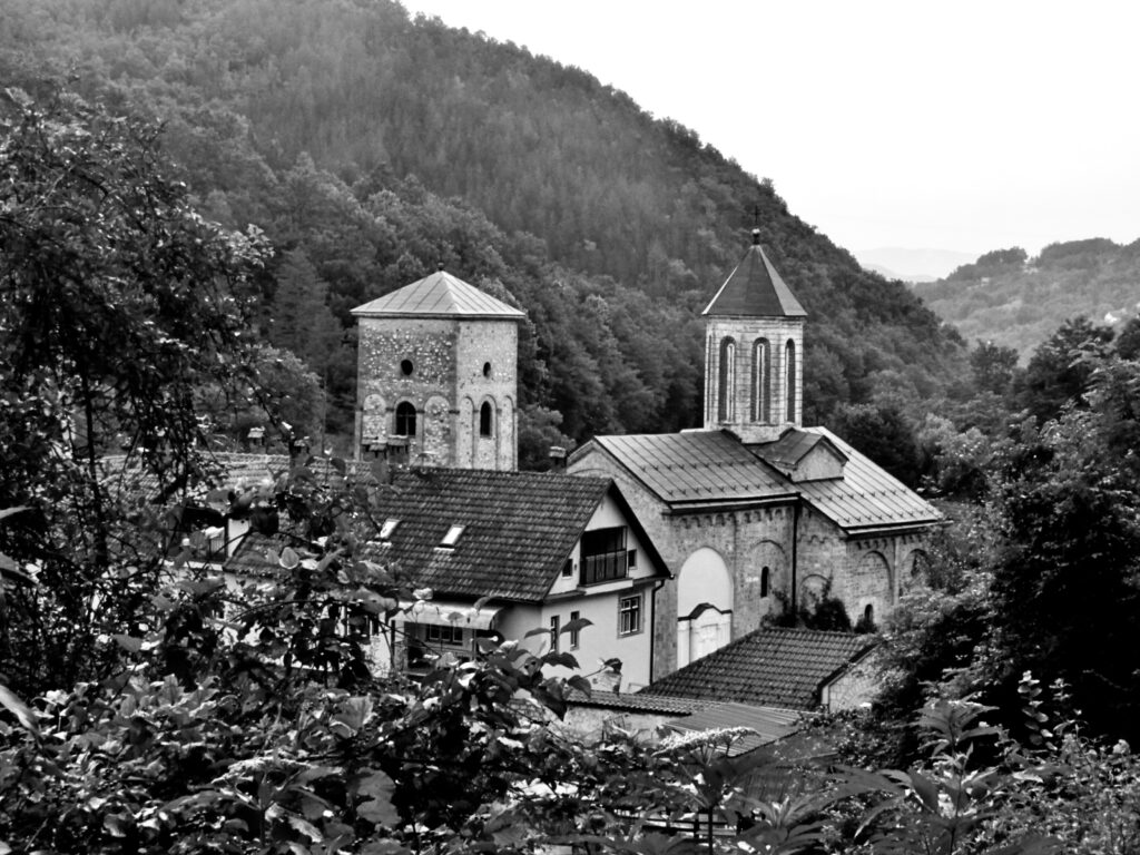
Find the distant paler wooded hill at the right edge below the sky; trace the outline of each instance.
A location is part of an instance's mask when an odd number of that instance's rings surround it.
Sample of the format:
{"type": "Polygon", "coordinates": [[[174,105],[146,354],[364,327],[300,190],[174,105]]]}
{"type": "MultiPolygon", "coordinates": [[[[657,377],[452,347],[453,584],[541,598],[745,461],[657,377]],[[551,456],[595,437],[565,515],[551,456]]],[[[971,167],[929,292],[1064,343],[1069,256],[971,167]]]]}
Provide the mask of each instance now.
{"type": "Polygon", "coordinates": [[[1137,317],[1140,241],[1068,241],[1033,259],[1019,247],[995,250],[914,292],[968,341],[992,341],[1028,358],[1069,318],[1117,325],[1137,317]]]}

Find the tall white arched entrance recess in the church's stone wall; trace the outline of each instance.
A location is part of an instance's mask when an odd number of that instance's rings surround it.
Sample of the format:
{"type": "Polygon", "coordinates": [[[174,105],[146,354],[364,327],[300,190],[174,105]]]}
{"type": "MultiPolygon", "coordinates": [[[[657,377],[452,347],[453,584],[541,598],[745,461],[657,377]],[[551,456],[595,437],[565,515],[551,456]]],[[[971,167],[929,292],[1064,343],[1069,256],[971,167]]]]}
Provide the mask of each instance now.
{"type": "Polygon", "coordinates": [[[732,575],[716,549],[702,546],[677,573],[677,667],[732,641],[732,575]]]}

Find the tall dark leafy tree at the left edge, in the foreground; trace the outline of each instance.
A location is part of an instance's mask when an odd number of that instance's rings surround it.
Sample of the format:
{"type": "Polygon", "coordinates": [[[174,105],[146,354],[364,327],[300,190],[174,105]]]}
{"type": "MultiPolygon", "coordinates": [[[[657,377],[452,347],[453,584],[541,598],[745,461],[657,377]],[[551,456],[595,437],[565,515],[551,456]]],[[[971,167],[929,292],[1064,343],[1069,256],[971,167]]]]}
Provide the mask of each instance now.
{"type": "Polygon", "coordinates": [[[23,612],[3,637],[16,684],[93,676],[97,636],[149,596],[164,508],[206,475],[195,392],[249,374],[261,258],[255,231],[189,207],[155,127],[64,91],[44,105],[7,91],[0,507],[32,510],[0,549],[39,581],[9,604],[23,612]]]}

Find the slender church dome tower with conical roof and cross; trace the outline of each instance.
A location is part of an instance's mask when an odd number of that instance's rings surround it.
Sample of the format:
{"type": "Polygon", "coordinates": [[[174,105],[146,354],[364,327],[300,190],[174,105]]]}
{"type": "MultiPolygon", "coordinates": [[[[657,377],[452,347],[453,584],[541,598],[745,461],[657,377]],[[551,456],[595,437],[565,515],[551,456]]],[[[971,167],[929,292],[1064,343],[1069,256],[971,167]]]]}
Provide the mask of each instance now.
{"type": "Polygon", "coordinates": [[[752,245],[705,316],[705,429],[769,442],[801,423],[807,312],[752,245]]]}

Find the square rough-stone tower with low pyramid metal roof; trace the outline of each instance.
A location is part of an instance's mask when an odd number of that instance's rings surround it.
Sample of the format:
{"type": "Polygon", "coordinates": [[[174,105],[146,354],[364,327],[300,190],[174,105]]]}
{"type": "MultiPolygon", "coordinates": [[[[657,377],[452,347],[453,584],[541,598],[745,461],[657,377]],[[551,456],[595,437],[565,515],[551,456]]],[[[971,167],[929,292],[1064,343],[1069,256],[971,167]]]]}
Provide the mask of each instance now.
{"type": "Polygon", "coordinates": [[[440,270],[352,314],[357,459],[516,467],[522,311],[440,270]]]}

